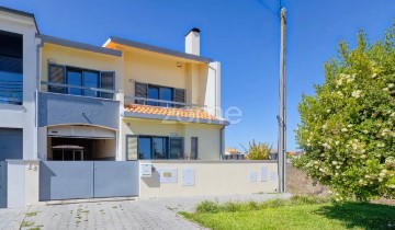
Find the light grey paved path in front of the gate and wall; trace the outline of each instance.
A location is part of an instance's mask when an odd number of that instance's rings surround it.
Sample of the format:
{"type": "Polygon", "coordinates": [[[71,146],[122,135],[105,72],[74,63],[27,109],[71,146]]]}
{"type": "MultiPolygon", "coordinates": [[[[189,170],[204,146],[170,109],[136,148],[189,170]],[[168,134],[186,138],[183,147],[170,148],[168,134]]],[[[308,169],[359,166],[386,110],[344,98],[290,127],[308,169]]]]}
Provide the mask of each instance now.
{"type": "Polygon", "coordinates": [[[37,205],[25,209],[0,209],[0,229],[203,229],[178,216],[193,211],[198,203],[214,200],[266,200],[290,195],[251,194],[37,205]]]}

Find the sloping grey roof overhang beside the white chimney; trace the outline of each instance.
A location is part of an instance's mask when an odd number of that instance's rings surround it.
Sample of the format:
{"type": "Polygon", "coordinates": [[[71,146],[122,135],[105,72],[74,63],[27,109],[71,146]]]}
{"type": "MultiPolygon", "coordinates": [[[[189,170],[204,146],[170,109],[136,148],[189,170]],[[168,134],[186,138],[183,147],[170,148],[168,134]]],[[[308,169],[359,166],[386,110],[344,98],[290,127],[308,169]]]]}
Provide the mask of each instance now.
{"type": "Polygon", "coordinates": [[[104,43],[103,47],[113,47],[113,46],[119,46],[119,45],[137,48],[137,49],[143,49],[143,50],[147,50],[147,51],[153,51],[153,53],[157,53],[157,54],[162,54],[162,55],[167,55],[167,56],[183,58],[183,59],[188,59],[188,60],[194,60],[194,61],[204,62],[204,64],[210,64],[213,61],[213,59],[211,59],[211,58],[201,57],[198,55],[190,55],[190,54],[185,54],[182,51],[177,51],[177,50],[172,50],[172,49],[168,49],[168,48],[163,48],[163,47],[159,47],[159,46],[153,46],[153,45],[148,45],[145,43],[138,43],[135,41],[129,41],[129,39],[115,37],[115,36],[111,36],[104,43]]]}

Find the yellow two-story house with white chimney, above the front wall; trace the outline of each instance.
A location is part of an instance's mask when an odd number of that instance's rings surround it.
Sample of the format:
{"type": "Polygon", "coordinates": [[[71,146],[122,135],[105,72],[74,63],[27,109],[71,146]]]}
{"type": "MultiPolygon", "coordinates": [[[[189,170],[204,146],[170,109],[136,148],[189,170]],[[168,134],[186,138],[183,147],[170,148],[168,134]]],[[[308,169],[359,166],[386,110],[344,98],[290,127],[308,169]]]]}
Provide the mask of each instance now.
{"type": "Polygon", "coordinates": [[[221,159],[219,64],[199,56],[199,33],[185,37],[194,54],[37,35],[41,159],[221,159]]]}

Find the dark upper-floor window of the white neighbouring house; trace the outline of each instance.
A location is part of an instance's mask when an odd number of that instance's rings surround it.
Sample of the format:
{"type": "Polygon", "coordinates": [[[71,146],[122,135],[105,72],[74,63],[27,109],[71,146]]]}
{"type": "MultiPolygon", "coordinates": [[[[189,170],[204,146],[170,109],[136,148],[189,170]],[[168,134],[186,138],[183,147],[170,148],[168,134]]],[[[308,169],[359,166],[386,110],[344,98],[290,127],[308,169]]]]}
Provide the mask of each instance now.
{"type": "Polygon", "coordinates": [[[0,31],[0,103],[22,104],[23,36],[0,31]]]}

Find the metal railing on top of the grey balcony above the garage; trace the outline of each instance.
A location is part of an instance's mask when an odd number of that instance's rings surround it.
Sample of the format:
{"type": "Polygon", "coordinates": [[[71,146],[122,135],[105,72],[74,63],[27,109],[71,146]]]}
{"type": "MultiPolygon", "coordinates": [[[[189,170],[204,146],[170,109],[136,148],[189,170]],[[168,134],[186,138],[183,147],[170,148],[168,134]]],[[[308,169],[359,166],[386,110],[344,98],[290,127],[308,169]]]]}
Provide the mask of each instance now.
{"type": "Polygon", "coordinates": [[[116,90],[106,90],[106,89],[100,89],[100,88],[54,83],[54,82],[47,82],[47,81],[42,81],[41,84],[48,85],[47,92],[70,94],[70,95],[81,95],[81,96],[116,100],[115,95],[116,95],[116,93],[119,93],[119,91],[116,91],[116,90]],[[80,90],[80,93],[72,93],[71,89],[80,90]]]}

